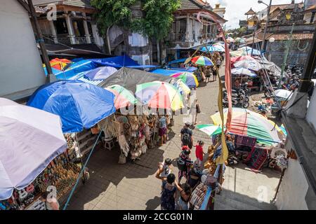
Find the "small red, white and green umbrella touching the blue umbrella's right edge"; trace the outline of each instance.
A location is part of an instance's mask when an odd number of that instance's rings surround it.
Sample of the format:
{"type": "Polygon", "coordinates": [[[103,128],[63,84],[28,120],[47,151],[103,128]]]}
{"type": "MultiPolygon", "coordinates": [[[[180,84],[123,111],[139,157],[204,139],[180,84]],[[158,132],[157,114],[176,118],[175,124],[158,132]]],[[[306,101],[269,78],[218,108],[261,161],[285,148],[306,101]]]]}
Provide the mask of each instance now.
{"type": "Polygon", "coordinates": [[[134,97],[133,93],[121,85],[110,85],[106,87],[105,90],[109,90],[114,94],[114,105],[116,109],[121,109],[126,106],[131,106],[131,104],[137,104],[137,99],[134,97]]]}

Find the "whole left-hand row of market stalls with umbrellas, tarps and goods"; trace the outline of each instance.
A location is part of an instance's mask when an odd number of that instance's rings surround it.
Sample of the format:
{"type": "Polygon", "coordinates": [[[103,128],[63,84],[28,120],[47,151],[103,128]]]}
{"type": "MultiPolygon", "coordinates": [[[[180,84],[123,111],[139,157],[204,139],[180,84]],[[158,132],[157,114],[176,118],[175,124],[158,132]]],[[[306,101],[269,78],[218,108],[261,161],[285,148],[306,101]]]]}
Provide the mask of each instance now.
{"type": "Polygon", "coordinates": [[[83,161],[100,142],[111,149],[117,140],[119,163],[136,160],[159,140],[159,113],[171,123],[199,85],[193,73],[142,71],[127,56],[51,65],[60,80],[39,87],[26,106],[0,100],[1,210],[46,209],[47,191],[65,204],[88,178],[83,161]]]}

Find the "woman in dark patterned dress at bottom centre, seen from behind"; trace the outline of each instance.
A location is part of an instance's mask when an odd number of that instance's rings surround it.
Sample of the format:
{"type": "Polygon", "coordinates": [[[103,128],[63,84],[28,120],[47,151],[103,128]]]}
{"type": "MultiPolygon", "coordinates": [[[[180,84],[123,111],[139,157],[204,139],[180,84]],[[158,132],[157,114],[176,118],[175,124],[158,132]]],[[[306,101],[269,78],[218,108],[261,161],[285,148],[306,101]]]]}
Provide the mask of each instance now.
{"type": "Polygon", "coordinates": [[[162,185],[162,197],[160,198],[160,207],[162,210],[175,210],[176,209],[176,176],[169,174],[166,182],[162,185]]]}

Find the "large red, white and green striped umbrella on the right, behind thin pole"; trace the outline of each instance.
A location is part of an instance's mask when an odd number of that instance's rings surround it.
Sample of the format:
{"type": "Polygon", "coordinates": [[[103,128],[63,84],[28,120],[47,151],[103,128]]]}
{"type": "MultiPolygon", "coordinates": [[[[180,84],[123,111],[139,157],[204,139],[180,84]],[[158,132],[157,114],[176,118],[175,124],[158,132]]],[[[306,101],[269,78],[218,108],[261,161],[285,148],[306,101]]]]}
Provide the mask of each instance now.
{"type": "MultiPolygon", "coordinates": [[[[227,121],[228,109],[224,109],[224,123],[227,121]]],[[[221,125],[220,113],[211,116],[214,125],[221,125]]],[[[257,142],[265,145],[272,145],[280,142],[284,137],[279,127],[261,114],[247,109],[233,108],[231,134],[254,137],[257,142]]]]}

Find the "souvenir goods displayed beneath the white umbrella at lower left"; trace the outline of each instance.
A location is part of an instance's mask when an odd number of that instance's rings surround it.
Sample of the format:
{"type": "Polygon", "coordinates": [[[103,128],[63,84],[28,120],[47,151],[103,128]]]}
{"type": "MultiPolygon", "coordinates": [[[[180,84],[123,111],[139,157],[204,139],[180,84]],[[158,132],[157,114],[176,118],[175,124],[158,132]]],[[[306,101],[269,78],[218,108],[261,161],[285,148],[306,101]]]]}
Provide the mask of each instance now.
{"type": "Polygon", "coordinates": [[[81,170],[73,137],[74,135],[65,135],[67,150],[52,160],[29,186],[21,190],[14,189],[8,200],[0,201],[0,210],[46,210],[42,197],[46,191],[56,193],[60,206],[65,204],[81,170]]]}

